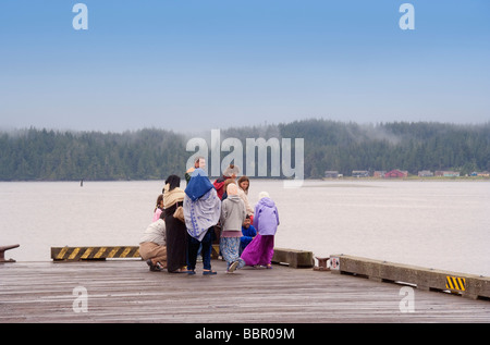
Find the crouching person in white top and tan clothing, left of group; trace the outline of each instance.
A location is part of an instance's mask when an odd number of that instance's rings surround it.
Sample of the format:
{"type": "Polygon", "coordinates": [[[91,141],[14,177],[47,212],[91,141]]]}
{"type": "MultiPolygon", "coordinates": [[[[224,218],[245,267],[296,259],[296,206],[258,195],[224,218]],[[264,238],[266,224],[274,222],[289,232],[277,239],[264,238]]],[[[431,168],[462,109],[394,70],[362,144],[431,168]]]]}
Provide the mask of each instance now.
{"type": "Polygon", "coordinates": [[[146,260],[150,271],[159,272],[167,269],[166,222],[162,218],[145,230],[139,241],[139,255],[146,260]]]}

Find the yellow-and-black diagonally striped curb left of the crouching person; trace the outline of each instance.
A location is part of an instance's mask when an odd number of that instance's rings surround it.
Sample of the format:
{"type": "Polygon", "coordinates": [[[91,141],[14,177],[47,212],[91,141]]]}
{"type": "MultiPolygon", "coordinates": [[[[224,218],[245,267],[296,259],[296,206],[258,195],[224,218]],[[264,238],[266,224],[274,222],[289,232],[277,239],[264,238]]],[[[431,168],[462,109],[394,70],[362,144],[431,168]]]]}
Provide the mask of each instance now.
{"type": "Polygon", "coordinates": [[[56,261],[105,260],[111,258],[140,258],[139,247],[51,247],[51,259],[56,261]]]}

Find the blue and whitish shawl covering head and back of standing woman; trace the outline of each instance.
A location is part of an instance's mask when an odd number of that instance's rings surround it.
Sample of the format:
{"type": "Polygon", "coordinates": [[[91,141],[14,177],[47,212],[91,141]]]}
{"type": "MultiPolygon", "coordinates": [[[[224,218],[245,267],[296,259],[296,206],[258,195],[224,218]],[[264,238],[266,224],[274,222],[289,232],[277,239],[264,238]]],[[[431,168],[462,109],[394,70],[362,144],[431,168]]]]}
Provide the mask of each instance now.
{"type": "Polygon", "coordinates": [[[184,218],[187,233],[203,241],[221,214],[221,200],[203,169],[196,169],[185,188],[184,218]]]}

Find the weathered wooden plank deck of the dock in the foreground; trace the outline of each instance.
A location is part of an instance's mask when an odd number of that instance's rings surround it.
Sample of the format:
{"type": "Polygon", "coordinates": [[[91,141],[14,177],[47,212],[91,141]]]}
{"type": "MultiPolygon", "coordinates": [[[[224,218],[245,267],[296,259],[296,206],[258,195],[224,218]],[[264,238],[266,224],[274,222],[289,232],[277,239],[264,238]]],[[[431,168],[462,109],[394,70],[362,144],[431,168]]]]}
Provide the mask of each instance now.
{"type": "Polygon", "coordinates": [[[273,266],[217,275],[149,272],[140,260],[0,264],[0,323],[13,322],[490,322],[490,303],[414,289],[401,312],[401,285],[273,266]],[[75,312],[74,288],[87,291],[75,312]]]}

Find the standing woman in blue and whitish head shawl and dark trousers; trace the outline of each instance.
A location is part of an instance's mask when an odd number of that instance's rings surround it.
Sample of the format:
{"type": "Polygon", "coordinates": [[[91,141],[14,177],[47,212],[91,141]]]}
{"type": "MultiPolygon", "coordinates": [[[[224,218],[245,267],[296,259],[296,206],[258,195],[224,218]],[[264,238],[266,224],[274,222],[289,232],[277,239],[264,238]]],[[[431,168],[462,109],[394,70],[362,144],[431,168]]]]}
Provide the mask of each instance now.
{"type": "Polygon", "coordinates": [[[220,220],[221,200],[206,173],[196,169],[185,188],[184,218],[187,227],[187,269],[195,274],[197,251],[203,245],[203,274],[216,274],[211,270],[211,247],[215,225],[220,220]]]}

